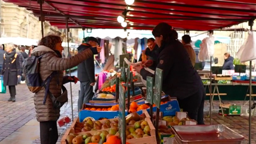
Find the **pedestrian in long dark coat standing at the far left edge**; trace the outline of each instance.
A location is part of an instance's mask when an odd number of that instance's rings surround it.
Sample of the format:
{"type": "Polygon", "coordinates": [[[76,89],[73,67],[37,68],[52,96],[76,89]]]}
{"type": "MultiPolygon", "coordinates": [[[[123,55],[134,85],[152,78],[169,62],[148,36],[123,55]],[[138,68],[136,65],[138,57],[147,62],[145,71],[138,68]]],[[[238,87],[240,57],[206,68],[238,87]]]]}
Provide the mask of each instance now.
{"type": "Polygon", "coordinates": [[[6,53],[4,54],[4,65],[0,75],[4,76],[4,85],[9,86],[10,98],[8,101],[15,102],[16,88],[18,78],[21,76],[19,56],[14,49],[14,44],[7,44],[6,53]]]}

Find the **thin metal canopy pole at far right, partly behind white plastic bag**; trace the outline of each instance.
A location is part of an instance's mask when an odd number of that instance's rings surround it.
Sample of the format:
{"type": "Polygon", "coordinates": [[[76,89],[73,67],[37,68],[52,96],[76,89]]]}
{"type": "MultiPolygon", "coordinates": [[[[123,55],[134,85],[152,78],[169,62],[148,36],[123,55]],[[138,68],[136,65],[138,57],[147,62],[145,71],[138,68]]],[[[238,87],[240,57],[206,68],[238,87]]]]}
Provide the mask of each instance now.
{"type": "MultiPolygon", "coordinates": [[[[252,26],[254,24],[254,19],[249,20],[250,30],[252,31],[252,26]]],[[[249,61],[249,144],[251,144],[251,123],[252,123],[252,116],[251,116],[251,100],[252,100],[252,61],[249,61]]]]}

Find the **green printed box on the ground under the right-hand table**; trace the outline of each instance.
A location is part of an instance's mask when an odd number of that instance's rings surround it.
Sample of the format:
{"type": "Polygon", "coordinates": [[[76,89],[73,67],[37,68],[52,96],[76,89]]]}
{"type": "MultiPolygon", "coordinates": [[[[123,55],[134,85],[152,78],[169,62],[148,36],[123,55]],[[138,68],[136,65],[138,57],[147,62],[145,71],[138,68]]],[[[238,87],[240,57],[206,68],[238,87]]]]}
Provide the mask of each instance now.
{"type": "Polygon", "coordinates": [[[223,113],[229,116],[239,116],[241,115],[241,105],[232,104],[220,104],[219,114],[222,114],[221,107],[223,108],[223,113]]]}

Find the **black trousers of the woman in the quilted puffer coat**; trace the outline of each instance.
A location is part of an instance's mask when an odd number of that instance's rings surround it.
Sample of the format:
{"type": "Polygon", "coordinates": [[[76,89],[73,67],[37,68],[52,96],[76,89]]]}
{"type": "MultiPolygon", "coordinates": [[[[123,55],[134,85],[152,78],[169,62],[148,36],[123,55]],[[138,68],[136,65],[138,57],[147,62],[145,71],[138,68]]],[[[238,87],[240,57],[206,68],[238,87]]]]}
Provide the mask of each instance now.
{"type": "Polygon", "coordinates": [[[41,144],[56,144],[58,137],[57,121],[40,122],[41,144]]]}

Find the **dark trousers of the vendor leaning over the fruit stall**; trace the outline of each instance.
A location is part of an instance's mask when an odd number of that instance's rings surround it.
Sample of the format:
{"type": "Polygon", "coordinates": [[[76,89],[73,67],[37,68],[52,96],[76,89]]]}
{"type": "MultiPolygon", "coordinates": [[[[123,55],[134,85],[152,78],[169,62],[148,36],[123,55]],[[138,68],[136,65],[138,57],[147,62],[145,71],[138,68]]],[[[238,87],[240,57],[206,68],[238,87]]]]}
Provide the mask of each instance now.
{"type": "Polygon", "coordinates": [[[190,117],[190,119],[196,120],[198,124],[204,124],[203,109],[205,97],[206,92],[202,86],[196,94],[184,98],[183,100],[179,100],[177,98],[177,100],[180,108],[183,108],[183,111],[188,113],[188,117],[190,117]]]}

